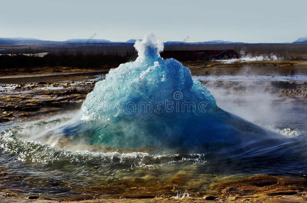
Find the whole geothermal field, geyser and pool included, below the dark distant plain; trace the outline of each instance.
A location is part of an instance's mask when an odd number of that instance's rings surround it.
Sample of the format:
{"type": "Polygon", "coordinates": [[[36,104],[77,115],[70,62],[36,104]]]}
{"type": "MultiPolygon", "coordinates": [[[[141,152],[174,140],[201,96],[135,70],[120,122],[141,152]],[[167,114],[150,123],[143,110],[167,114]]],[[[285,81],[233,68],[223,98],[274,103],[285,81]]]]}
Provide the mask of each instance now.
{"type": "Polygon", "coordinates": [[[4,69],[5,202],[306,200],[307,62],[134,47],[114,69],[4,69]]]}

